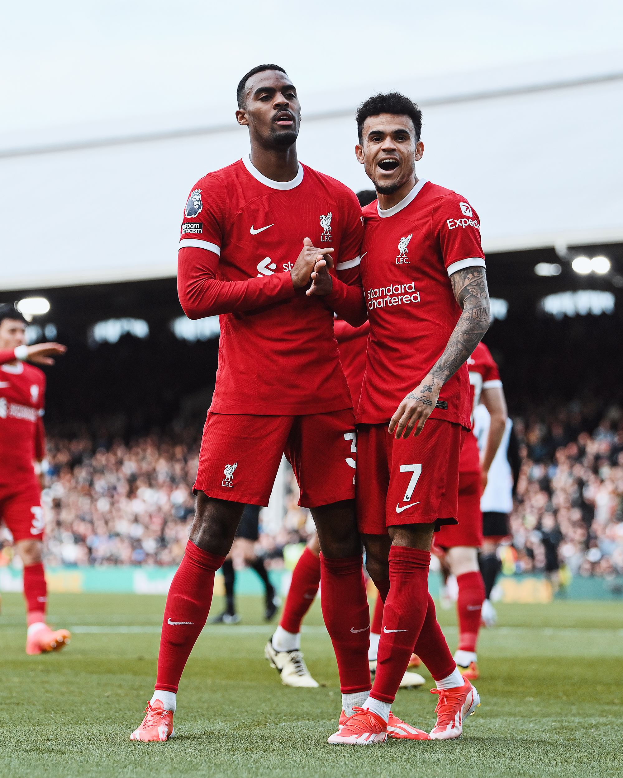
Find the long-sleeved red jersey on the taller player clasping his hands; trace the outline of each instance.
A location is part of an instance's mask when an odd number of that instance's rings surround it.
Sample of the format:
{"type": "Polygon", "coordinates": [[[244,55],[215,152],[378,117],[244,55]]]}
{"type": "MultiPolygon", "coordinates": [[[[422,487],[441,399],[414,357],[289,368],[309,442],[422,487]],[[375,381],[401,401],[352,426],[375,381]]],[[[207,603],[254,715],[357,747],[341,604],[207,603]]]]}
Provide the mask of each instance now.
{"type": "Polygon", "coordinates": [[[178,291],[188,316],[221,314],[212,412],[350,408],[333,311],[352,292],[361,315],[362,237],[354,192],[308,166],[280,182],[245,158],[195,184],[181,226],[178,291]],[[290,268],[305,237],[335,249],[328,297],[292,286],[290,268]]]}

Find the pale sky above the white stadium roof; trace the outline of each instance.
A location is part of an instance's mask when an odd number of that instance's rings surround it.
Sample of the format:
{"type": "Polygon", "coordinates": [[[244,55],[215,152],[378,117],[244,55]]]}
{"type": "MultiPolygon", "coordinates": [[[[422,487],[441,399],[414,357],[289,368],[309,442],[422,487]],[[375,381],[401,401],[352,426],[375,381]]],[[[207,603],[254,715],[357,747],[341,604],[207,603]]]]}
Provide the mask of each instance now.
{"type": "Polygon", "coordinates": [[[0,132],[206,111],[276,62],[302,96],[621,49],[623,3],[0,2],[0,132]]]}

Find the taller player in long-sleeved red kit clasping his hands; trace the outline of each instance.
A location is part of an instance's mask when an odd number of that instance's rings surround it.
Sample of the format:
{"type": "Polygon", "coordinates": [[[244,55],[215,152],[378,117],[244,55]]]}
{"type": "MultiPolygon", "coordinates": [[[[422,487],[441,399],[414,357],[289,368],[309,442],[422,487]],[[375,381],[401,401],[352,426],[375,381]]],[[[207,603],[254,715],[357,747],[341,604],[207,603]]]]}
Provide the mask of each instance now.
{"type": "Polygon", "coordinates": [[[245,503],[268,505],[282,454],[319,534],[322,612],[344,705],[350,709],[350,699],[371,688],[348,463],[354,413],[333,336],[333,311],[354,325],[365,321],[361,208],[354,192],[298,162],[301,109],[283,68],[253,68],[237,96],[251,155],[192,187],[181,226],[181,305],[191,318],[220,314],[219,367],[199,454],[195,520],[167,597],[156,692],[135,740],[173,734],[178,683],[206,622],[214,573],[245,503]],[[321,256],[332,257],[332,286],[312,294],[306,287],[321,256]]]}

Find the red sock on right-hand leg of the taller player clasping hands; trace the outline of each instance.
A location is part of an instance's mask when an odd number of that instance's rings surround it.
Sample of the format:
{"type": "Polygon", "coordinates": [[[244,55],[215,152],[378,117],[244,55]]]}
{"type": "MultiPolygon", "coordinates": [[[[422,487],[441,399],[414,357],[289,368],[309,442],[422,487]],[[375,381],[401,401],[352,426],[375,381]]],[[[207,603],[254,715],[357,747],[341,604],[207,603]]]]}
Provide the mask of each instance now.
{"type": "Polygon", "coordinates": [[[363,558],[326,559],[320,555],[320,601],[340,671],[343,694],[371,687],[368,646],[370,609],[365,591],[363,558]]]}

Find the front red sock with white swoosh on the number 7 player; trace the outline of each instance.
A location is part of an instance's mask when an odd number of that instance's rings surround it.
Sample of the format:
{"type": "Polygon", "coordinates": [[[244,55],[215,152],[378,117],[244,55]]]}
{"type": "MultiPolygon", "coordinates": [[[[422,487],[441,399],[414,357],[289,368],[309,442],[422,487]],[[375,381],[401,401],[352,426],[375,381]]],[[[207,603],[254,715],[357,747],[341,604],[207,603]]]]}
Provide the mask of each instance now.
{"type": "Polygon", "coordinates": [[[431,554],[392,545],[389,549],[389,594],[383,609],[375,683],[370,696],[392,703],[407,670],[428,611],[428,566],[431,554]]]}

